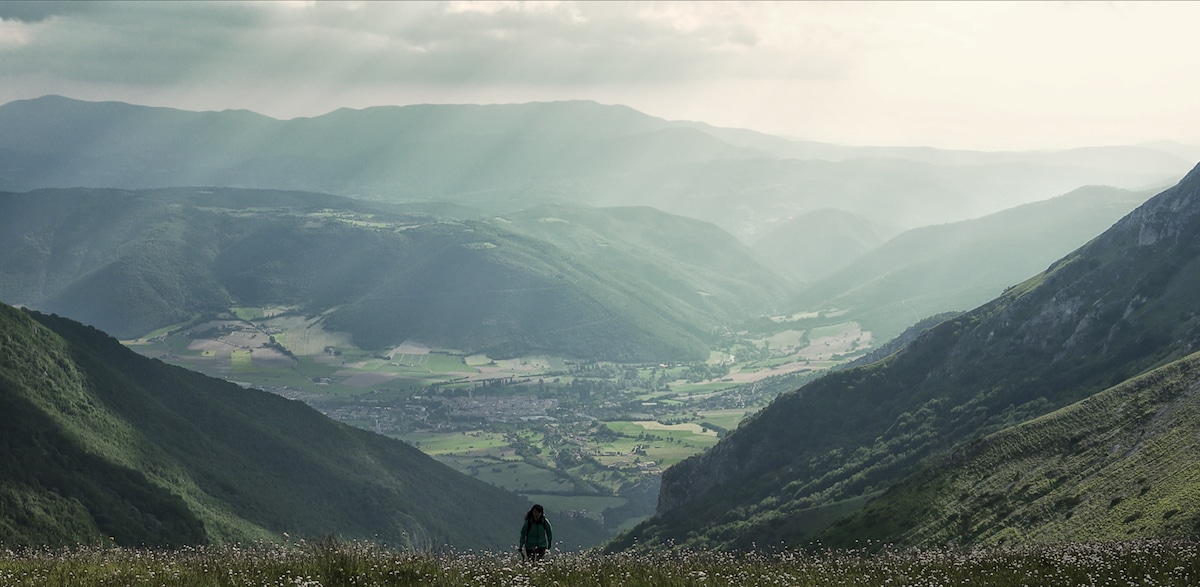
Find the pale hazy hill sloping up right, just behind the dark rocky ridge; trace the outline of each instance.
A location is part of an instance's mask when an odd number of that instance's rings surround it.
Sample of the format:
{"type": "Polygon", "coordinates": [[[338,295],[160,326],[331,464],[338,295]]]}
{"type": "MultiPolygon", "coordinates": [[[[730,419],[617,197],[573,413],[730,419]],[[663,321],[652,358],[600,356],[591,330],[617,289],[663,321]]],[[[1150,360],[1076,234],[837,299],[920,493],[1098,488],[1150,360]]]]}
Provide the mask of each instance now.
{"type": "Polygon", "coordinates": [[[918,318],[970,310],[995,298],[1151,196],[1081,187],[982,218],[912,229],[811,283],[790,307],[848,310],[850,317],[887,340],[918,318]]]}

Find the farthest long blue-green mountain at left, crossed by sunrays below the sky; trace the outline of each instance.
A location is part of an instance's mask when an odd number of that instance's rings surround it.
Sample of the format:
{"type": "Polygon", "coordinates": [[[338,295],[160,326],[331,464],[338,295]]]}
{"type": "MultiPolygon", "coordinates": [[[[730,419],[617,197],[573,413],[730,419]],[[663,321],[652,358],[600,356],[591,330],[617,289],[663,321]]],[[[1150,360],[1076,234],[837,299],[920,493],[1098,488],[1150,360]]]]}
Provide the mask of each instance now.
{"type": "Polygon", "coordinates": [[[556,182],[758,155],[593,102],[377,107],[284,121],[58,96],[0,107],[0,148],[14,154],[4,188],[218,185],[499,206],[512,205],[504,200],[515,190],[544,197],[556,182]]]}

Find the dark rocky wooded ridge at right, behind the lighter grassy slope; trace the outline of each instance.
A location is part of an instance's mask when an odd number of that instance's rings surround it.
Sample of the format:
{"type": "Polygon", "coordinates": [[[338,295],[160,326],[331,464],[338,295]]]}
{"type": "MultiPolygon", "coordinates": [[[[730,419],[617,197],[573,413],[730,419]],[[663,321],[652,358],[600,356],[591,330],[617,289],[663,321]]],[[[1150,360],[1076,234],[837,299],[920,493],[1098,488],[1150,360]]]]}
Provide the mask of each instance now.
{"type": "Polygon", "coordinates": [[[1042,275],[779,396],[666,471],[616,547],[798,544],[930,457],[1200,347],[1200,167],[1042,275]]]}

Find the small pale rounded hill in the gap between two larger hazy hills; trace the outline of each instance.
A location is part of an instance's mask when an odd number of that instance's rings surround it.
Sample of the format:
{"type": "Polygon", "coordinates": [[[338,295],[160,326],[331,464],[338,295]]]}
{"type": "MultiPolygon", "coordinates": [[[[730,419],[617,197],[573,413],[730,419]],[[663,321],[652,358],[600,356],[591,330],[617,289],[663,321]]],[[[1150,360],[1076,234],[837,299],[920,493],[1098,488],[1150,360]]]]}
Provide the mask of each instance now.
{"type": "Polygon", "coordinates": [[[772,227],[752,248],[780,275],[808,283],[850,265],[900,232],[842,210],[814,210],[772,227]]]}

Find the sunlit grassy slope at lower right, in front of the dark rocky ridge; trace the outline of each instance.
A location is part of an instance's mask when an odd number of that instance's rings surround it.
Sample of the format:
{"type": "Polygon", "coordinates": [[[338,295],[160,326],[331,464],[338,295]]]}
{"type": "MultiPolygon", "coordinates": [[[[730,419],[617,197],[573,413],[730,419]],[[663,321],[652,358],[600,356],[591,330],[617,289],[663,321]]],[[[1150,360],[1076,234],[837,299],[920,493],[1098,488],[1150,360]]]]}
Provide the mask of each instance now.
{"type": "Polygon", "coordinates": [[[1200,533],[1200,354],[971,443],[820,535],[905,546],[1200,533]]]}

